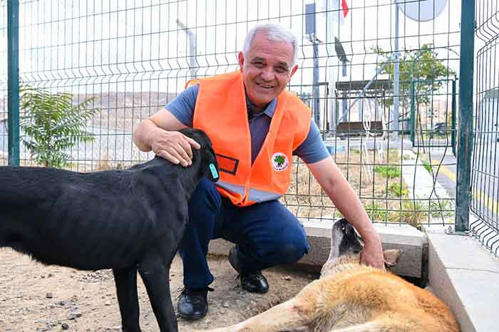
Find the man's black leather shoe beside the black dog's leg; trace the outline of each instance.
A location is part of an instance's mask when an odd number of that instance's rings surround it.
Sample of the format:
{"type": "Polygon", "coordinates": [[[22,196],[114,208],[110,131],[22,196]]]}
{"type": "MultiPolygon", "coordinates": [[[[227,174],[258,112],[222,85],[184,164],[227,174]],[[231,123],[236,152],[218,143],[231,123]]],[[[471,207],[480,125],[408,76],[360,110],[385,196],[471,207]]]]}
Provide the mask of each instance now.
{"type": "Polygon", "coordinates": [[[200,290],[184,287],[177,304],[180,317],[189,321],[205,317],[208,312],[207,294],[212,290],[209,287],[200,290]]]}

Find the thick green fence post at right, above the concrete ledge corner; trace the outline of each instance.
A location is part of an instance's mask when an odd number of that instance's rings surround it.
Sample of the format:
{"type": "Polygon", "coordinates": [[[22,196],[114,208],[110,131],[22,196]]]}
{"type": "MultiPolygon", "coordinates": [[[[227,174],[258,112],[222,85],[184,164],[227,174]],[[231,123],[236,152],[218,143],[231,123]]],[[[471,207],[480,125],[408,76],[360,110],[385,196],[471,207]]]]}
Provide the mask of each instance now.
{"type": "Polygon", "coordinates": [[[475,0],[461,0],[461,58],[459,61],[459,154],[456,181],[456,233],[470,225],[471,152],[473,150],[473,60],[475,0]]]}

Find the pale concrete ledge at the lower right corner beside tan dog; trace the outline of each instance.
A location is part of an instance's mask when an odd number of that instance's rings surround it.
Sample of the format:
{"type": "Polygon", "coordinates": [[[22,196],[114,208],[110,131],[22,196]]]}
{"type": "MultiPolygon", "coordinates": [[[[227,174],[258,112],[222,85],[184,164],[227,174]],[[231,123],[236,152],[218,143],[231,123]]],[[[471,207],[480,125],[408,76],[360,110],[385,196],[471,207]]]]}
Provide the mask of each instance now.
{"type": "Polygon", "coordinates": [[[428,283],[450,306],[461,331],[498,331],[499,260],[473,237],[427,232],[428,283]]]}

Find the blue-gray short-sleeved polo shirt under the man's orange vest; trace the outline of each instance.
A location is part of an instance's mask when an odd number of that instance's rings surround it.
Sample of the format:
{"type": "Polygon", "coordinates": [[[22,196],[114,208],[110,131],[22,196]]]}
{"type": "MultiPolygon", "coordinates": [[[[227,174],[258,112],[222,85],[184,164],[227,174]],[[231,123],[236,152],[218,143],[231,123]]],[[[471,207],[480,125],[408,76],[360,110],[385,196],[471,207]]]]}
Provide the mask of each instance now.
{"type": "MultiPolygon", "coordinates": [[[[166,105],[166,109],[187,127],[192,127],[198,92],[199,85],[192,85],[190,88],[183,90],[182,93],[166,105]]],[[[263,112],[256,115],[252,113],[252,104],[248,98],[246,98],[246,104],[248,108],[249,133],[251,134],[251,160],[253,162],[269,132],[270,120],[272,120],[272,116],[274,115],[277,99],[272,100],[263,112]]],[[[297,155],[307,164],[312,164],[313,162],[318,162],[329,157],[329,152],[321,138],[319,128],[317,128],[312,118],[310,119],[310,130],[307,139],[293,151],[293,155],[297,155]]]]}

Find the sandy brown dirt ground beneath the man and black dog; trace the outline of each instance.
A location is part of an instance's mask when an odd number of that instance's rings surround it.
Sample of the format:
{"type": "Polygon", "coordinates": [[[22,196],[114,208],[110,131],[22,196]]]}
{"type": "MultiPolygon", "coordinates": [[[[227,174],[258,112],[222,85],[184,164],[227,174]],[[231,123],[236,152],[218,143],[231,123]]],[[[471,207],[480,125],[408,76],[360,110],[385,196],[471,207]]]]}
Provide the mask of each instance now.
{"type": "MultiPolygon", "coordinates": [[[[179,331],[227,326],[266,310],[297,294],[317,278],[296,269],[278,267],[264,271],[267,294],[240,289],[236,272],[225,257],[210,257],[215,276],[208,294],[210,310],[200,321],[178,318],[179,331]]],[[[143,332],[159,331],[145,287],[138,276],[140,326],[143,332]]],[[[182,290],[182,261],[177,256],[170,269],[173,304],[182,290]]],[[[118,332],[120,314],[110,270],[76,271],[44,266],[28,256],[0,249],[0,331],[118,332]]]]}

